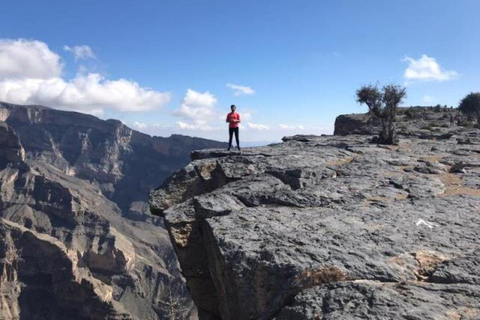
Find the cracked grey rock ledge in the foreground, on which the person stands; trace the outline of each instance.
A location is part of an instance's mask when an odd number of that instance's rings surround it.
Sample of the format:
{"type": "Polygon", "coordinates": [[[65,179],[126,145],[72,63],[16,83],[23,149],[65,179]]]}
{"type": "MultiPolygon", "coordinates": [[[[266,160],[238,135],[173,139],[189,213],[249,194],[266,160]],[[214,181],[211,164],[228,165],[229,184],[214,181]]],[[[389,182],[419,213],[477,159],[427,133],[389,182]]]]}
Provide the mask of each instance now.
{"type": "Polygon", "coordinates": [[[200,319],[479,319],[480,131],[442,130],[194,152],[150,205],[200,319]]]}

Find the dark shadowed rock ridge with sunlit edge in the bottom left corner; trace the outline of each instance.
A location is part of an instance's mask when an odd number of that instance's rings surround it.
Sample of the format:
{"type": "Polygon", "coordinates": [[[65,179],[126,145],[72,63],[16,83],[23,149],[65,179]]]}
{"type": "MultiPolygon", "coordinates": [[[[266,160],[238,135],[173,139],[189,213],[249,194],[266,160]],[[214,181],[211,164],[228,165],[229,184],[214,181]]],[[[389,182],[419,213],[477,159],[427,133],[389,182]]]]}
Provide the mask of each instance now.
{"type": "Polygon", "coordinates": [[[0,219],[2,319],[133,319],[57,239],[0,219]]]}

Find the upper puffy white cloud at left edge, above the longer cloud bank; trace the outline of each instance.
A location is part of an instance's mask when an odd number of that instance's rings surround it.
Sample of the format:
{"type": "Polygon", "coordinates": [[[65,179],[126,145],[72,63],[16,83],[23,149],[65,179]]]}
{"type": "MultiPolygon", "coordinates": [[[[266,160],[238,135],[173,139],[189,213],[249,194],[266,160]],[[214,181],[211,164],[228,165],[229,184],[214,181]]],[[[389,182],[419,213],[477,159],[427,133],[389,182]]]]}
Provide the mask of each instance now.
{"type": "Polygon", "coordinates": [[[60,77],[60,56],[44,42],[0,39],[0,80],[60,77]]]}

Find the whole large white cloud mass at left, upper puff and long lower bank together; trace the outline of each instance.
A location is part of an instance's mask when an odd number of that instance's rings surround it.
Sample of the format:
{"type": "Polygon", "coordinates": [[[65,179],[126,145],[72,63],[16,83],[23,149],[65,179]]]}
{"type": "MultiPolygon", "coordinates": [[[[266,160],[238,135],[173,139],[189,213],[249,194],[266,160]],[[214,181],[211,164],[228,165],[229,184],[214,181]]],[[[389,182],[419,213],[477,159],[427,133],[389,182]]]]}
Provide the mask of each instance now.
{"type": "Polygon", "coordinates": [[[126,80],[110,80],[98,73],[61,77],[60,57],[40,41],[0,40],[0,100],[42,104],[59,109],[102,115],[148,111],[166,105],[170,93],[141,87],[126,80]]]}

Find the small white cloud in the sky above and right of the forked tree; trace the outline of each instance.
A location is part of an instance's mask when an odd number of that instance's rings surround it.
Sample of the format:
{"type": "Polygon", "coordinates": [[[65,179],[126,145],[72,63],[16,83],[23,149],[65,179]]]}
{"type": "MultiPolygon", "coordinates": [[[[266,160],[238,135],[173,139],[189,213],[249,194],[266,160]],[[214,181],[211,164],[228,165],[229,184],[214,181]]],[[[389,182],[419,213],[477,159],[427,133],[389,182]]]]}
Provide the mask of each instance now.
{"type": "Polygon", "coordinates": [[[435,58],[426,54],[418,60],[405,57],[403,61],[408,62],[408,67],[403,75],[407,80],[446,81],[458,75],[456,71],[444,70],[435,58]]]}

